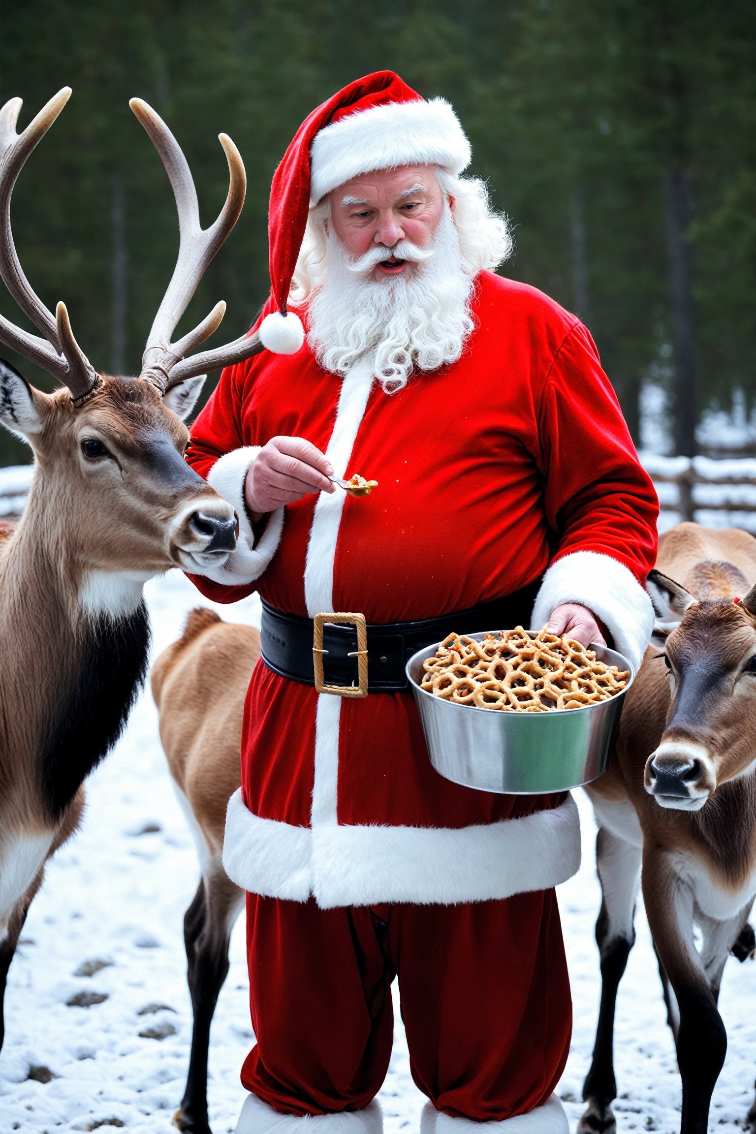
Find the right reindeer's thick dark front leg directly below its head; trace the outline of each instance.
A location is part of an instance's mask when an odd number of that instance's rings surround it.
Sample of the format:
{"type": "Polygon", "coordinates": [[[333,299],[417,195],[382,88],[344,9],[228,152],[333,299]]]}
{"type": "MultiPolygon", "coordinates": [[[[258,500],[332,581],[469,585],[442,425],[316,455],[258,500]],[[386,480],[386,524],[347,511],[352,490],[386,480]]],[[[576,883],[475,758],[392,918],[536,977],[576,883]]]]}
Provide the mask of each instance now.
{"type": "MultiPolygon", "coordinates": [[[[680,1013],[677,1034],[682,1078],[680,1131],[706,1134],[712,1091],[727,1052],[727,1032],[693,940],[693,890],[677,874],[672,855],[659,848],[644,855],[643,895],[659,957],[680,1013]]],[[[737,930],[729,946],[736,937],[737,930]]]]}

